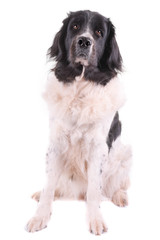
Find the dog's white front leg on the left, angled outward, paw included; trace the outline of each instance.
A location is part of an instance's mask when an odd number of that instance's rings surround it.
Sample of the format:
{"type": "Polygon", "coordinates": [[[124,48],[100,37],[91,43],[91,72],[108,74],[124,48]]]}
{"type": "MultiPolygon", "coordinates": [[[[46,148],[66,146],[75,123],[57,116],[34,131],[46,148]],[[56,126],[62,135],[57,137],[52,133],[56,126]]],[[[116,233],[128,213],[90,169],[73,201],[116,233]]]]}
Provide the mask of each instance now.
{"type": "Polygon", "coordinates": [[[39,231],[47,226],[51,216],[52,201],[56,184],[62,171],[62,167],[60,166],[61,161],[59,161],[56,150],[53,146],[49,147],[46,157],[47,181],[41,192],[40,201],[35,215],[30,219],[26,226],[26,230],[29,232],[39,231]]]}

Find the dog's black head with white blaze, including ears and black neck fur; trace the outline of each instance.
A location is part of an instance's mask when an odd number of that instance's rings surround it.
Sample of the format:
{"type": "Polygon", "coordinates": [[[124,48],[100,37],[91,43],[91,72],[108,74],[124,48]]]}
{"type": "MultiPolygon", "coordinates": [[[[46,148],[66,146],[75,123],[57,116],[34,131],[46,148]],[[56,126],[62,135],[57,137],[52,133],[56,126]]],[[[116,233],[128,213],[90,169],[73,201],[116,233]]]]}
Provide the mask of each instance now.
{"type": "Polygon", "coordinates": [[[111,21],[91,11],[71,12],[49,49],[57,78],[71,82],[85,68],[84,78],[105,85],[122,69],[111,21]]]}

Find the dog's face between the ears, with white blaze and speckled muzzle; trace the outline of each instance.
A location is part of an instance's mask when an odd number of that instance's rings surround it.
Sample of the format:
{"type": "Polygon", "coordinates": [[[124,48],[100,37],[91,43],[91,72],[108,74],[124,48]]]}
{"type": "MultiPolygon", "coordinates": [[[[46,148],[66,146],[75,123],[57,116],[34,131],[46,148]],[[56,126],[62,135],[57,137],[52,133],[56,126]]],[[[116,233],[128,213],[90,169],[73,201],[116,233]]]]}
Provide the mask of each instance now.
{"type": "Polygon", "coordinates": [[[102,57],[107,27],[104,18],[88,12],[72,17],[67,29],[66,49],[70,49],[68,60],[73,66],[79,63],[84,66],[98,66],[102,57]]]}

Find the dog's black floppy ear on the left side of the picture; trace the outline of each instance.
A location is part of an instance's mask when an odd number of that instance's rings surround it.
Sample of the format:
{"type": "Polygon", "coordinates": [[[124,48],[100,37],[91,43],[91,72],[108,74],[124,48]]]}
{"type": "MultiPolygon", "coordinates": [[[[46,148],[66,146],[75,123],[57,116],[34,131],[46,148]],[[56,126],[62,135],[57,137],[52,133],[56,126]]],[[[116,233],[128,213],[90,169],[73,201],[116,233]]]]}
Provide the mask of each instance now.
{"type": "Polygon", "coordinates": [[[54,58],[56,61],[66,60],[66,48],[65,48],[65,38],[67,34],[67,26],[69,22],[69,17],[64,19],[63,26],[60,31],[56,34],[52,46],[48,49],[48,55],[50,58],[54,58]]]}

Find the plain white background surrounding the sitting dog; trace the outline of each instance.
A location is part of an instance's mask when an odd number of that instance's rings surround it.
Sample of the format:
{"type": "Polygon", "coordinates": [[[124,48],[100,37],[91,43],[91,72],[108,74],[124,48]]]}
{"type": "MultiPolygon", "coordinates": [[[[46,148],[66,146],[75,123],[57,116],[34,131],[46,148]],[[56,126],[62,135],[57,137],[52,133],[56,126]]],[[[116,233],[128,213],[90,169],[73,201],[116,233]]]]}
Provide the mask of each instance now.
{"type": "Polygon", "coordinates": [[[160,34],[158,0],[0,3],[0,238],[95,239],[83,202],[55,202],[48,228],[24,226],[36,209],[30,195],[43,187],[48,111],[41,93],[46,52],[69,11],[90,9],[110,17],[124,59],[128,101],[120,116],[133,147],[129,206],[104,202],[108,233],[98,239],[160,239],[160,34]]]}

